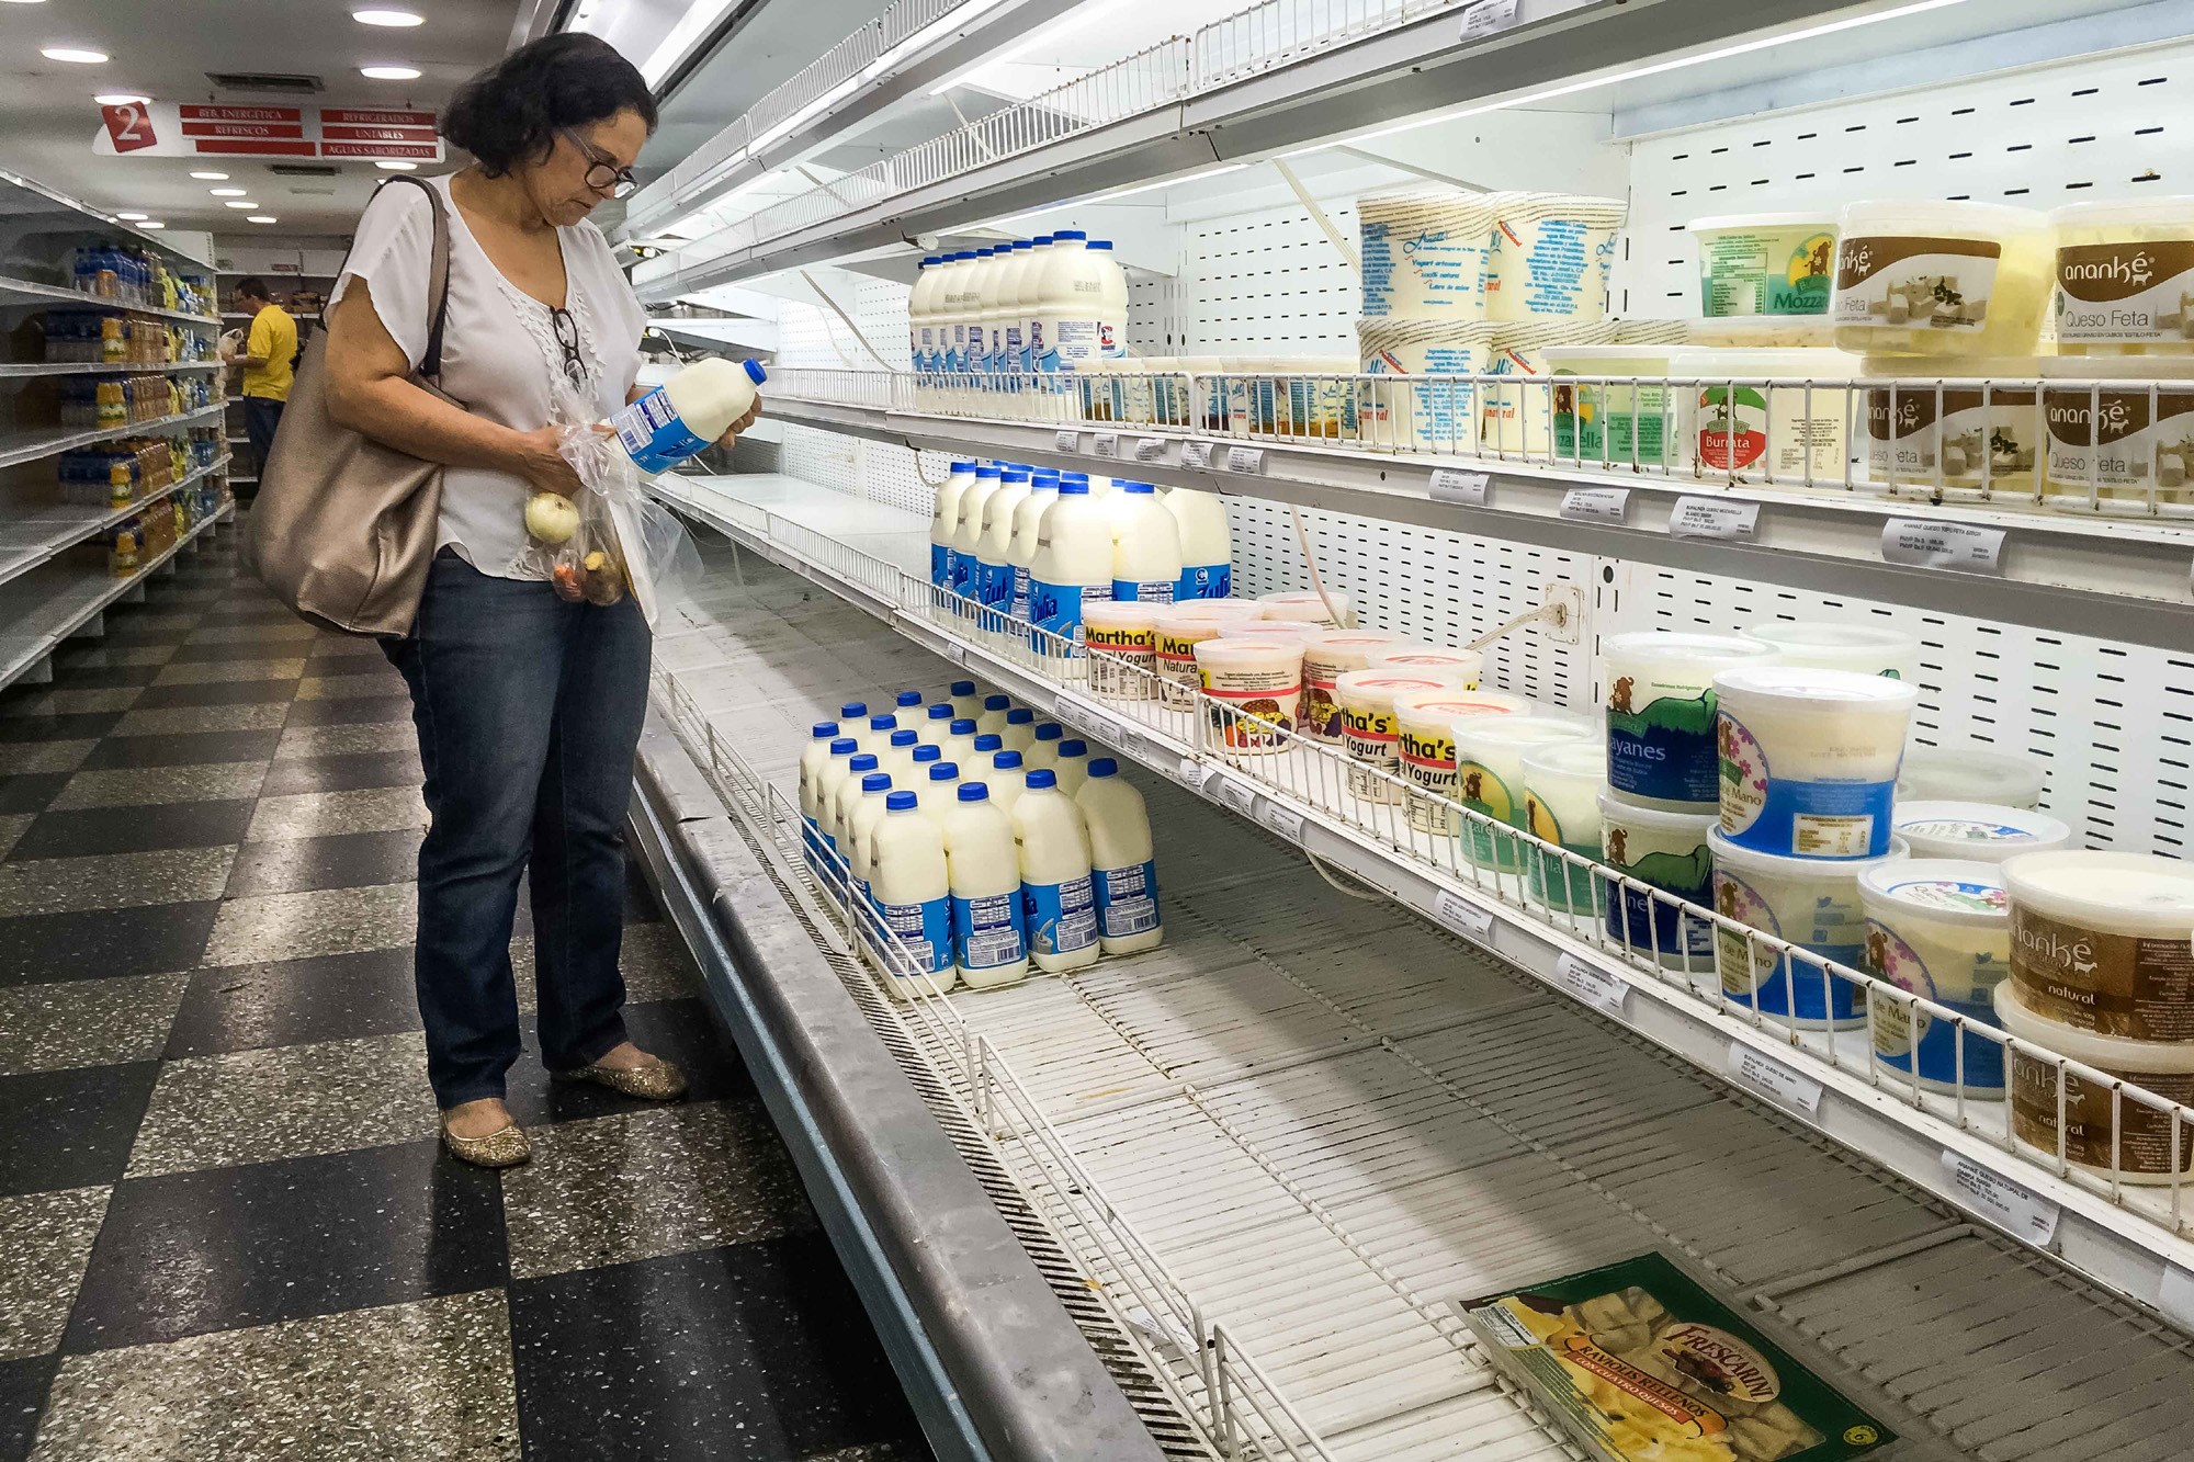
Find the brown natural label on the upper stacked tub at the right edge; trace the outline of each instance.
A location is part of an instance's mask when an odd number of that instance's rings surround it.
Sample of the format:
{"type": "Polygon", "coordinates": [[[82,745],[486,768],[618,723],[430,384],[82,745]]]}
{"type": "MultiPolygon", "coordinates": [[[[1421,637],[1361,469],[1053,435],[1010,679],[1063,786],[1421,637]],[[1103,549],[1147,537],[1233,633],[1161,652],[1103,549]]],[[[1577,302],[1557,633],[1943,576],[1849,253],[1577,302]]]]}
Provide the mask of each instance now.
{"type": "Polygon", "coordinates": [[[2012,904],[2012,983],[2034,1014],[2133,1041],[2194,1041],[2194,946],[2012,904]]]}

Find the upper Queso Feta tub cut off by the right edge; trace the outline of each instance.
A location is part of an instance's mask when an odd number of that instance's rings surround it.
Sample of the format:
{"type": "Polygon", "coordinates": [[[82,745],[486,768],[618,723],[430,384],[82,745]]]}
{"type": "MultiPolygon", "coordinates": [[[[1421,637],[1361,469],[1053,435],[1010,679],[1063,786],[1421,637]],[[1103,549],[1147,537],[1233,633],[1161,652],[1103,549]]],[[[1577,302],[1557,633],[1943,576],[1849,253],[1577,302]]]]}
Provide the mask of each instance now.
{"type": "Polygon", "coordinates": [[[2194,349],[2194,198],[2069,204],[2049,226],[2060,353],[2194,349]]]}

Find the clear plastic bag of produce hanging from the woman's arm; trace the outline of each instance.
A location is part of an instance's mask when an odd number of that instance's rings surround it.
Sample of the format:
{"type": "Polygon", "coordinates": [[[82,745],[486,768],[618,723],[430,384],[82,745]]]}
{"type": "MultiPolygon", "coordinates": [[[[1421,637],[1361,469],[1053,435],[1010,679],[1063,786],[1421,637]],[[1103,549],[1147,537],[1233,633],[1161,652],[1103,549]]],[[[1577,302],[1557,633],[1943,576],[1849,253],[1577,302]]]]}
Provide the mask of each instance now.
{"type": "MultiPolygon", "coordinates": [[[[685,525],[647,496],[632,459],[575,391],[557,391],[553,426],[559,430],[557,450],[581,483],[570,501],[577,527],[548,542],[529,511],[533,544],[527,564],[573,604],[610,606],[630,591],[647,626],[656,628],[665,610],[698,584],[700,549],[685,525]]],[[[551,531],[570,522],[555,505],[540,518],[551,531]]]]}

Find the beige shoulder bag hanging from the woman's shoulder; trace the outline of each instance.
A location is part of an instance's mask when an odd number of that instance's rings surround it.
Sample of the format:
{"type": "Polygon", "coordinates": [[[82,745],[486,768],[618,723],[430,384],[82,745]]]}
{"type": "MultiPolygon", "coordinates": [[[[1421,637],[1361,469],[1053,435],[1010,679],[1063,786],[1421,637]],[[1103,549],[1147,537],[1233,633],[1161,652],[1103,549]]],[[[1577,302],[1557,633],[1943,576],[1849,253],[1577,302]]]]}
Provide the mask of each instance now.
{"type": "MultiPolygon", "coordinates": [[[[439,384],[450,310],[450,215],[441,191],[426,180],[388,180],[397,182],[426,189],[434,204],[426,358],[412,382],[463,406],[439,384]]],[[[351,634],[408,634],[434,562],[441,463],[338,426],[327,413],[325,356],[327,331],[318,329],[259,472],[246,564],[305,619],[351,634]]]]}

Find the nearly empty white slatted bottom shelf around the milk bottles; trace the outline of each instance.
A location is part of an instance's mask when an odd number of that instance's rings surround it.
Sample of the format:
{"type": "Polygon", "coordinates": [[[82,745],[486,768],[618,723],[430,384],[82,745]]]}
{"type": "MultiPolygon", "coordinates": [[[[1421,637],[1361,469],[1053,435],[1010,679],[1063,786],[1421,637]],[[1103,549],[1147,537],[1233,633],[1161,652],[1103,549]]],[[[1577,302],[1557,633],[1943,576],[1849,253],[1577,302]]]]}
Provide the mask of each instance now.
{"type": "MultiPolygon", "coordinates": [[[[720,569],[660,632],[658,681],[858,983],[801,867],[799,749],[838,700],[948,670],[911,665],[895,623],[814,601],[805,577],[720,569]]],[[[1448,1302],[1648,1249],[1847,1365],[1839,1381],[1904,1433],[1885,1462],[2183,1453],[2194,1354],[2155,1317],[1635,1023],[1334,893],[1290,841],[1141,784],[1163,948],[878,1019],[941,1115],[983,1113],[998,1161],[1213,1436],[1213,1337],[1268,1379],[1270,1405],[1231,1412],[1242,1455],[1575,1458],[1448,1302]],[[1154,1269],[1130,1273],[1121,1256],[1145,1247],[1154,1269]],[[1152,1297],[1152,1275],[1174,1293],[1152,1297]]]]}

